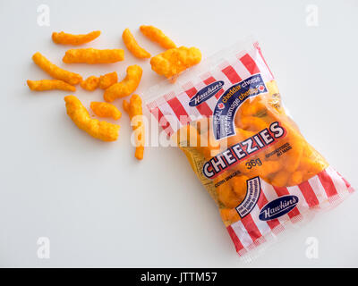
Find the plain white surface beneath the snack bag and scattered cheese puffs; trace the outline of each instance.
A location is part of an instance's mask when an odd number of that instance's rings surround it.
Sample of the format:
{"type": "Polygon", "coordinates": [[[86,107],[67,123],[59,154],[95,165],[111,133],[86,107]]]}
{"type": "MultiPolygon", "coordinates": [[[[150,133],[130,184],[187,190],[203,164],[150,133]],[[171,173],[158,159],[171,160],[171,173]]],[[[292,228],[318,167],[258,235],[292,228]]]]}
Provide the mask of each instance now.
{"type": "MultiPolygon", "coordinates": [[[[358,187],[358,4],[337,3],[2,0],[0,266],[358,266],[356,194],[244,265],[179,150],[149,147],[137,162],[126,114],[118,141],[100,142],[67,117],[66,92],[34,93],[26,86],[27,79],[48,78],[31,61],[37,51],[83,77],[117,71],[122,78],[126,66],[138,63],[121,39],[127,27],[152,55],[161,49],[141,35],[141,24],[200,47],[204,57],[254,33],[303,134],[358,187]],[[49,27],[38,26],[39,4],[50,7],[49,27]],[[318,27],[306,25],[307,4],[318,5],[318,27]],[[53,44],[51,33],[93,29],[102,35],[86,46],[122,47],[126,60],[61,63],[69,47],[53,44]],[[320,241],[318,259],[305,257],[311,236],[320,241]],[[49,238],[49,259],[37,257],[38,237],[49,238]]],[[[161,80],[149,61],[140,64],[139,94],[161,80]]],[[[78,87],[75,94],[87,106],[102,98],[101,90],[78,87]]]]}

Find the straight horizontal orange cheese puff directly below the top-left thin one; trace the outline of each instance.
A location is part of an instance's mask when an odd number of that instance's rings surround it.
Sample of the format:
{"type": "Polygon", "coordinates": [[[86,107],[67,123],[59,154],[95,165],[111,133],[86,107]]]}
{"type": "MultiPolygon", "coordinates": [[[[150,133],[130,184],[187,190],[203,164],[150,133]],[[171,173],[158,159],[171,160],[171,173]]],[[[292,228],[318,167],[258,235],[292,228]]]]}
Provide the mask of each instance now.
{"type": "Polygon", "coordinates": [[[124,60],[124,50],[120,48],[98,50],[95,48],[73,48],[66,51],[64,63],[116,63],[124,60]]]}

